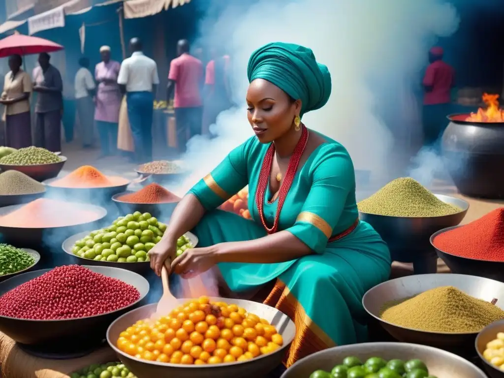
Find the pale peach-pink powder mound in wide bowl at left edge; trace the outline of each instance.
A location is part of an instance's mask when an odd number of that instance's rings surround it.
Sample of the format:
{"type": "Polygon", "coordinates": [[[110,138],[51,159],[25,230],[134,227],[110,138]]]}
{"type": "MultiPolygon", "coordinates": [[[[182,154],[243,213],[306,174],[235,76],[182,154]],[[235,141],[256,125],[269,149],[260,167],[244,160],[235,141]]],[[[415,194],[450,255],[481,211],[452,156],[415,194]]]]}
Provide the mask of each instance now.
{"type": "Polygon", "coordinates": [[[40,198],[0,217],[0,226],[17,228],[51,228],[94,222],[95,211],[76,204],[40,198]]]}

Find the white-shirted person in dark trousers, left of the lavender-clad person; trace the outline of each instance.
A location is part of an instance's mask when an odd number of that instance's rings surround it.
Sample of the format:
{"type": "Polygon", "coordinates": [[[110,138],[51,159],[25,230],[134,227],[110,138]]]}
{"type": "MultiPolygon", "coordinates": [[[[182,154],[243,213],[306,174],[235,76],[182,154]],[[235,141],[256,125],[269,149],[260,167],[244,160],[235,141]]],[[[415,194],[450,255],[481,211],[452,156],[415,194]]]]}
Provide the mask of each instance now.
{"type": "Polygon", "coordinates": [[[77,103],[77,114],[79,115],[79,126],[81,131],[82,145],[90,148],[93,145],[94,136],[94,103],[96,84],[93,75],[89,71],[89,59],[82,57],[79,59],[81,68],[75,75],[75,100],[77,103]]]}

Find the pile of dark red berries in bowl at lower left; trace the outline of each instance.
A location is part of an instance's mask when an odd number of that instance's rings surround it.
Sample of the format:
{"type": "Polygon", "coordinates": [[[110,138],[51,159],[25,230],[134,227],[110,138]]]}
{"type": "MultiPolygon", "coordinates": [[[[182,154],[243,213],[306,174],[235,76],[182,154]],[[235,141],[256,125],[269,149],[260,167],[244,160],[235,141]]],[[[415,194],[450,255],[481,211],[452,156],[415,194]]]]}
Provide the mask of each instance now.
{"type": "Polygon", "coordinates": [[[120,280],[67,265],[25,282],[0,297],[0,316],[56,320],[90,317],[126,307],[140,298],[120,280]]]}

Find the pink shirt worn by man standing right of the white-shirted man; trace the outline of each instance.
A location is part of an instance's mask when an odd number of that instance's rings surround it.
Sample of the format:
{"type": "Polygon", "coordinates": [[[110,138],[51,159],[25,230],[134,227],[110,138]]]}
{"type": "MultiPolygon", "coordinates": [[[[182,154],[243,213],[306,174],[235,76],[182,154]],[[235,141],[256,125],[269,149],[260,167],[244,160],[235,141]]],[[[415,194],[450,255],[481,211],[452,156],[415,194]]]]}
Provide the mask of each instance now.
{"type": "Polygon", "coordinates": [[[200,59],[184,53],[170,63],[168,79],[175,82],[173,107],[202,106],[200,84],[203,81],[203,64],[200,59]]]}

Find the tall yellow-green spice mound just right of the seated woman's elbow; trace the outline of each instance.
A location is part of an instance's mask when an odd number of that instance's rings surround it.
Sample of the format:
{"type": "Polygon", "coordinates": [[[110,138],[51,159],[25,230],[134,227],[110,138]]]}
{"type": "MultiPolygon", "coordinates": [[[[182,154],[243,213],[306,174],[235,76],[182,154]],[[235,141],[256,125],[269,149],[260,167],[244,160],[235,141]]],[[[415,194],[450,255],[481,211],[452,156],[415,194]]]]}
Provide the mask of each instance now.
{"type": "Polygon", "coordinates": [[[394,217],[440,217],[462,211],[439,200],[411,177],[396,178],[357,207],[363,213],[394,217]]]}

